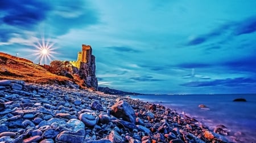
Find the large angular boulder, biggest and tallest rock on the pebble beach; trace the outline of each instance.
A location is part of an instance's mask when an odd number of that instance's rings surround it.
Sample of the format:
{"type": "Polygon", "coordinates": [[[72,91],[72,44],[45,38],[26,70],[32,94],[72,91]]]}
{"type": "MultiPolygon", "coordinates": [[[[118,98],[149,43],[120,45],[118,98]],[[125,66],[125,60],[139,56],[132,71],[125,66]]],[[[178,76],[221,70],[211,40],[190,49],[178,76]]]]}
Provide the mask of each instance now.
{"type": "Polygon", "coordinates": [[[117,117],[126,120],[127,122],[135,124],[135,112],[129,103],[125,101],[118,101],[112,107],[111,113],[117,117]]]}

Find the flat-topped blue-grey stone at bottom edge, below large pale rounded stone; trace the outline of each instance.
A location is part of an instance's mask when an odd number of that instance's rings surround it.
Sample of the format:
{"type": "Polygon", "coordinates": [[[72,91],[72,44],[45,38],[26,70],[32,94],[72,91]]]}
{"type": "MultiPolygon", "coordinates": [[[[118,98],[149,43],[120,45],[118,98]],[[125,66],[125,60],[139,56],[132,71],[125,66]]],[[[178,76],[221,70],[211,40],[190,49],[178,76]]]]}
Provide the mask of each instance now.
{"type": "Polygon", "coordinates": [[[84,140],[85,130],[80,129],[77,132],[63,131],[56,137],[56,142],[81,143],[84,140]]]}

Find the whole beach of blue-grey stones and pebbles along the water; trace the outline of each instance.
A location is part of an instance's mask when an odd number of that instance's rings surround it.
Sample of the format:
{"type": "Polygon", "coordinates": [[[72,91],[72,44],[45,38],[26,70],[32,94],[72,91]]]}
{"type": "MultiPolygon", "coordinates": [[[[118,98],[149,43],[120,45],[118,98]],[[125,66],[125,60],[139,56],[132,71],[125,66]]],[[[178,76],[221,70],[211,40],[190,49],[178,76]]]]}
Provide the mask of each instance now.
{"type": "Polygon", "coordinates": [[[229,142],[161,105],[79,89],[0,80],[0,142],[229,142]]]}

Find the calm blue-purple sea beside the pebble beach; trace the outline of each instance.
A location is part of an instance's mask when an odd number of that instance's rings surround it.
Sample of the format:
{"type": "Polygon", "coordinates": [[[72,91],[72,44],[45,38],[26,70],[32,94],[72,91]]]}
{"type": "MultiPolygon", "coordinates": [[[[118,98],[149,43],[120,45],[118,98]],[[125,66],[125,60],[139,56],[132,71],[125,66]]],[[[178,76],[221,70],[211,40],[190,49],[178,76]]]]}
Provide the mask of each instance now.
{"type": "Polygon", "coordinates": [[[233,142],[256,143],[256,94],[141,95],[131,98],[164,105],[203,122],[210,129],[218,124],[225,125],[230,131],[227,138],[233,142]],[[233,102],[236,98],[245,98],[247,102],[233,102]],[[200,109],[200,104],[209,109],[200,109]]]}

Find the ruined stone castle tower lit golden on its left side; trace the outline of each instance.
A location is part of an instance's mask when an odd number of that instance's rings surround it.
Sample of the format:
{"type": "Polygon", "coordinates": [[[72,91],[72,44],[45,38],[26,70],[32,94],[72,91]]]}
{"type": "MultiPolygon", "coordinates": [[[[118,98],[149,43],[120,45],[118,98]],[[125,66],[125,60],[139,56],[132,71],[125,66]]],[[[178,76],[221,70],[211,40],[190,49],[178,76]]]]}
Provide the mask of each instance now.
{"type": "Polygon", "coordinates": [[[77,55],[77,61],[70,61],[73,71],[78,73],[84,83],[94,89],[98,89],[98,81],[95,75],[96,64],[95,57],[92,55],[92,47],[82,44],[82,51],[77,55]]]}

